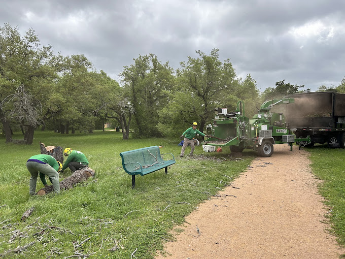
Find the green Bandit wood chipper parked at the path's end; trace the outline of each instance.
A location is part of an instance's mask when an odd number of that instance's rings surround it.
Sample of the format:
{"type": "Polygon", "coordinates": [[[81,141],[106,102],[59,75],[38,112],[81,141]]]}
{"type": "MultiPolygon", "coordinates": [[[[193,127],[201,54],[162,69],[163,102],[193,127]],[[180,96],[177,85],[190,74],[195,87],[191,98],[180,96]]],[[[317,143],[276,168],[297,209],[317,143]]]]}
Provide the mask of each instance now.
{"type": "MultiPolygon", "coordinates": [[[[204,140],[201,144],[227,147],[231,152],[242,152],[245,148],[258,151],[260,156],[268,157],[273,153],[274,144],[289,144],[292,150],[294,142],[310,142],[310,137],[296,139],[287,128],[283,112],[273,112],[277,105],[293,103],[293,98],[280,98],[264,102],[258,113],[249,119],[245,116],[245,104],[237,102],[234,112],[216,108],[212,127],[214,136],[204,140]]],[[[284,110],[284,109],[282,109],[284,110]]]]}

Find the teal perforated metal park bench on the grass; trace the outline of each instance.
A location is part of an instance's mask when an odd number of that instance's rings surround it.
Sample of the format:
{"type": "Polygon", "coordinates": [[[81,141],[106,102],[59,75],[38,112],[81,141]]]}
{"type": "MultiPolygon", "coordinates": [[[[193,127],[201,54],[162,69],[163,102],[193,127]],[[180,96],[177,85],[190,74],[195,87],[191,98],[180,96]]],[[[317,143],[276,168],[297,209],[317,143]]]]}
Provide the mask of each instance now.
{"type": "Polygon", "coordinates": [[[127,174],[132,176],[132,188],[135,186],[135,175],[147,175],[162,168],[165,174],[168,173],[167,167],[175,164],[175,157],[171,153],[160,154],[158,146],[144,147],[134,150],[121,152],[122,167],[127,174]],[[164,160],[163,155],[172,156],[170,160],[164,160]]]}

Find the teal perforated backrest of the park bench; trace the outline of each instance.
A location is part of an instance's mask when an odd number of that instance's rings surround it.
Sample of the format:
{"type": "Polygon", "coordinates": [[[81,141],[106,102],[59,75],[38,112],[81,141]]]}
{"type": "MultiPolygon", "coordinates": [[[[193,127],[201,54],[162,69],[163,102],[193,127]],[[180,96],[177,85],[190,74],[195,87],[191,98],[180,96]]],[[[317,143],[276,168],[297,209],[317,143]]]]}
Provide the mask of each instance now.
{"type": "MultiPolygon", "coordinates": [[[[144,147],[134,150],[121,152],[122,166],[125,170],[132,172],[137,168],[138,164],[129,164],[133,162],[139,162],[142,166],[152,165],[157,160],[163,162],[164,160],[160,157],[160,150],[158,146],[144,147]],[[153,157],[154,156],[154,157],[153,157]],[[157,158],[157,160],[156,160],[157,158]],[[129,164],[129,165],[126,165],[129,164]]],[[[139,170],[140,171],[140,170],[139,170]]]]}

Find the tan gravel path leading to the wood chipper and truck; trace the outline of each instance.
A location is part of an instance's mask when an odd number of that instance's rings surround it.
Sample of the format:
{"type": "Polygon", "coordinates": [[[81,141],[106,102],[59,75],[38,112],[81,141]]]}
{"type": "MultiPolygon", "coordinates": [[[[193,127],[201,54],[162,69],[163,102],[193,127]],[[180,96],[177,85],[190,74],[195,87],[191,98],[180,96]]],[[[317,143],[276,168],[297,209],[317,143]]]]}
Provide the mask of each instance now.
{"type": "Polygon", "coordinates": [[[345,250],[322,223],[329,209],[309,163],[297,146],[274,145],[271,157],[256,158],[220,197],[187,216],[168,255],[156,258],[338,258],[345,250]]]}

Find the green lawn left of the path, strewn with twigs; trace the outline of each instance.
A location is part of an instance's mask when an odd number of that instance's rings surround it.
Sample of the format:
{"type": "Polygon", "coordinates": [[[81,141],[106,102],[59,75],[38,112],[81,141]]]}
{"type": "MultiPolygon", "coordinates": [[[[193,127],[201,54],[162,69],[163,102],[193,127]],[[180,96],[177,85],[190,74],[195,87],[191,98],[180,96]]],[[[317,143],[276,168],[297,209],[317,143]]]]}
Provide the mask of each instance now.
{"type": "MultiPolygon", "coordinates": [[[[22,138],[17,133],[15,138],[22,138]]],[[[205,159],[180,158],[179,139],[122,140],[121,132],[60,135],[35,132],[33,144],[5,144],[0,139],[0,254],[11,257],[17,247],[19,258],[66,257],[78,253],[92,258],[153,258],[169,231],[184,222],[184,216],[215,195],[243,172],[255,157],[244,152],[233,159],[229,150],[194,154],[205,159]],[[95,178],[73,189],[44,197],[29,196],[26,160],[40,153],[39,143],[71,147],[87,156],[95,178]],[[161,145],[177,163],[144,177],[131,176],[122,169],[120,152],[161,145]],[[212,159],[211,159],[212,158],[212,159]],[[31,216],[20,220],[27,209],[31,216]]],[[[188,148],[186,153],[188,153],[188,148]]],[[[61,178],[71,175],[65,170],[61,178]]],[[[43,187],[38,180],[37,190],[43,187]]]]}

